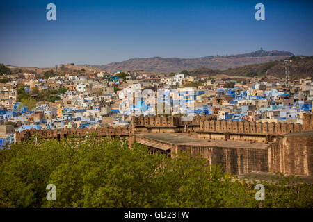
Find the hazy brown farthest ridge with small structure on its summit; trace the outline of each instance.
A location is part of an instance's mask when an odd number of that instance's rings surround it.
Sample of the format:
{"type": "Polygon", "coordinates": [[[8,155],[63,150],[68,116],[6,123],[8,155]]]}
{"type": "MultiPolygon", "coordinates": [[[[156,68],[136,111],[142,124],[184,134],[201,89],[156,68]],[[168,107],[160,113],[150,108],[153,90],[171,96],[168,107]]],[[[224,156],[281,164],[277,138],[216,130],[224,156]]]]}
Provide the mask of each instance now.
{"type": "Polygon", "coordinates": [[[273,60],[282,60],[294,56],[288,51],[264,51],[258,50],[252,53],[244,53],[231,56],[205,56],[200,58],[131,58],[124,62],[112,62],[107,65],[97,65],[107,71],[131,71],[144,70],[154,73],[169,74],[180,72],[183,69],[192,71],[198,68],[224,70],[243,65],[264,63],[273,60]]]}

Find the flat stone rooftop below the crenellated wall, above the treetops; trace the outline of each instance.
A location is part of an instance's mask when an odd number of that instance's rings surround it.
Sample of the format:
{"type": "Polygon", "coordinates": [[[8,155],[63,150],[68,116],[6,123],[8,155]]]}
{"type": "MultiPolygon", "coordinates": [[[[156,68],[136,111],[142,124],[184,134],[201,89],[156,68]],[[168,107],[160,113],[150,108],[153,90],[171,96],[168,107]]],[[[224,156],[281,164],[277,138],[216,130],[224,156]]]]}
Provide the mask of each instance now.
{"type": "Polygon", "coordinates": [[[269,144],[255,142],[250,144],[248,141],[236,141],[225,139],[198,139],[196,135],[189,133],[139,133],[137,136],[143,139],[152,139],[157,142],[166,144],[180,144],[189,146],[214,146],[214,147],[229,147],[229,148],[258,148],[265,149],[269,144]]]}

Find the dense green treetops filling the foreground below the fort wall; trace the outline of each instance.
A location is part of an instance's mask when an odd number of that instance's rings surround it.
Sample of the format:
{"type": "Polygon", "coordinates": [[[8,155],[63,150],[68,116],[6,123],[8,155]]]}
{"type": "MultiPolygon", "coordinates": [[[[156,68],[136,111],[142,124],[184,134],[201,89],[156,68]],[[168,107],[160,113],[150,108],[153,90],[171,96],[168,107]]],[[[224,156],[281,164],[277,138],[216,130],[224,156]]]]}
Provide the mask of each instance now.
{"type": "Polygon", "coordinates": [[[253,186],[199,155],[150,155],[141,144],[96,136],[34,139],[0,151],[0,207],[312,207],[312,187],[253,186]],[[56,200],[46,199],[48,184],[56,200]]]}

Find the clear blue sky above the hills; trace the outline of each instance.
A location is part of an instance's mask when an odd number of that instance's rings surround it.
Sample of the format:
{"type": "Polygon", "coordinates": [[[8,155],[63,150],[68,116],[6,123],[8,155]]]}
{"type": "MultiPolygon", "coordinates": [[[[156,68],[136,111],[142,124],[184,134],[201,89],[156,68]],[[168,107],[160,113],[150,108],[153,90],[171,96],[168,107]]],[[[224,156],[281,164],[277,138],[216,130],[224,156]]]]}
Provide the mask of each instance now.
{"type": "Polygon", "coordinates": [[[313,55],[312,1],[1,1],[0,62],[52,67],[260,47],[313,55]],[[56,21],[46,6],[56,5],[56,21]],[[255,5],[265,21],[255,20],[255,5]]]}

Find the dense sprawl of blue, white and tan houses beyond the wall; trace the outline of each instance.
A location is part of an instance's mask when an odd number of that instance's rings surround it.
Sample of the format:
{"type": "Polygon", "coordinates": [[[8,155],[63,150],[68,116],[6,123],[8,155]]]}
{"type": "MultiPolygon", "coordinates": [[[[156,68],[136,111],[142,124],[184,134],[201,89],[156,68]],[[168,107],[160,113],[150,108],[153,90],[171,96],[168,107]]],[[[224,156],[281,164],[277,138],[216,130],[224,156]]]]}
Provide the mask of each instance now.
{"type": "Polygon", "coordinates": [[[140,98],[134,96],[139,102],[125,108],[125,89],[149,89],[155,104],[159,103],[160,90],[168,92],[170,114],[211,114],[228,121],[302,123],[303,113],[312,112],[313,101],[312,78],[286,84],[285,80],[266,76],[232,80],[190,76],[183,71],[166,76],[134,70],[56,74],[49,78],[5,74],[1,79],[6,81],[0,83],[0,148],[14,143],[15,133],[32,128],[131,126],[132,111],[150,115],[147,104],[152,103],[142,94],[140,98]],[[171,90],[177,90],[178,97],[171,90]],[[193,107],[175,108],[176,100],[182,98],[193,107]]]}

